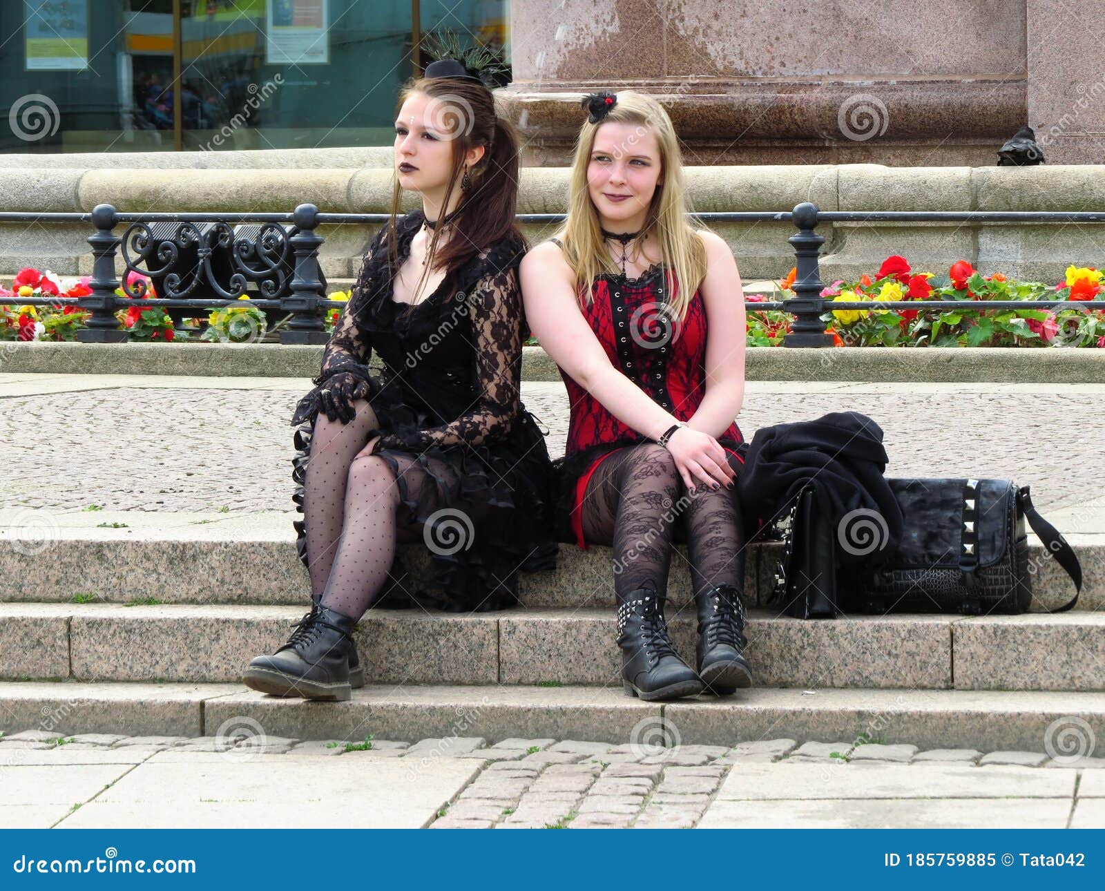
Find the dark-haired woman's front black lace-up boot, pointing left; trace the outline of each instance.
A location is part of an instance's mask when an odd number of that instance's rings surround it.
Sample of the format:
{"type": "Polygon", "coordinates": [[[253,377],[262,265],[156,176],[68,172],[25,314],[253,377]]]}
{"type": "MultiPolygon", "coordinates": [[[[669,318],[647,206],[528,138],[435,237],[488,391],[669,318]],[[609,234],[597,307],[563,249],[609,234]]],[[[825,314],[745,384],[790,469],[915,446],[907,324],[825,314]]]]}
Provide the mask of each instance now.
{"type": "Polygon", "coordinates": [[[295,623],[284,646],[272,656],[259,656],[250,662],[242,683],[277,696],[348,700],[350,663],[357,652],[352,641],[356,623],[349,616],[315,605],[295,623]]]}

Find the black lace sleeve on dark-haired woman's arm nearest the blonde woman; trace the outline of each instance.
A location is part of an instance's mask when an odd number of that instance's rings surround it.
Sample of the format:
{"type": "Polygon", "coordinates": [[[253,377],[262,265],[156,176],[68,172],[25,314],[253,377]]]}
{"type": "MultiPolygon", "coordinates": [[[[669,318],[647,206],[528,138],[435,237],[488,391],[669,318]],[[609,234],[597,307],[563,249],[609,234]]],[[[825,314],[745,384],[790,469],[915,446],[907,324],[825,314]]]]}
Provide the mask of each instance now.
{"type": "Polygon", "coordinates": [[[522,287],[517,264],[481,276],[470,298],[480,389],[472,410],[440,427],[385,433],[379,446],[404,450],[480,446],[507,436],[520,409],[522,287]]]}

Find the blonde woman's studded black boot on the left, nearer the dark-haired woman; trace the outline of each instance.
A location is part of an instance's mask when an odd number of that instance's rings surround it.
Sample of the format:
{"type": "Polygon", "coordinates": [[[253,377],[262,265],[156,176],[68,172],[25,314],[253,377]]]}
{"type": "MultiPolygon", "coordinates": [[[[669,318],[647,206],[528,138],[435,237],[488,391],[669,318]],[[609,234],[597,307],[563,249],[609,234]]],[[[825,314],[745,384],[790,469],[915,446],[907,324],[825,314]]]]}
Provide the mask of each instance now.
{"type": "Polygon", "coordinates": [[[664,598],[649,585],[619,600],[618,646],[625,692],[650,701],[701,693],[702,680],[672,647],[664,598]]]}

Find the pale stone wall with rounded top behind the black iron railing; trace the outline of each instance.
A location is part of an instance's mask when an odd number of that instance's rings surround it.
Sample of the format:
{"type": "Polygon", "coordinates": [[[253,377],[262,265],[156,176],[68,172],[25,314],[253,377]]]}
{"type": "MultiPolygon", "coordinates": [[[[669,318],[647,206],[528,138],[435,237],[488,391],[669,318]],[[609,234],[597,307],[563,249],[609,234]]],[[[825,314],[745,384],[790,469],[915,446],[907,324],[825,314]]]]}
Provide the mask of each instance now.
{"type": "MultiPolygon", "coordinates": [[[[103,157],[103,156],[97,156],[103,157]]],[[[1097,165],[895,168],[881,165],[694,167],[686,171],[698,211],[789,211],[801,201],[823,210],[1099,210],[1105,167],[1097,165]]],[[[564,212],[568,170],[525,168],[519,211],[564,212]]],[[[244,169],[0,168],[0,210],[290,212],[312,202],[327,212],[386,212],[388,168],[244,169]]],[[[409,205],[408,205],[409,206],[409,205]]],[[[746,281],[777,279],[793,265],[790,223],[716,224],[746,281]]],[[[0,274],[24,265],[88,274],[91,224],[0,222],[0,274]]],[[[123,227],[118,230],[123,232],[123,227]]],[[[355,274],[372,227],[325,226],[323,271],[333,282],[355,274]]],[[[526,227],[536,241],[550,227],[526,227]]],[[[836,223],[820,229],[825,281],[871,272],[891,253],[937,274],[956,260],[983,273],[1059,281],[1066,265],[1105,266],[1101,231],[1073,223],[836,223]]],[[[119,265],[122,270],[122,263],[119,265]]]]}

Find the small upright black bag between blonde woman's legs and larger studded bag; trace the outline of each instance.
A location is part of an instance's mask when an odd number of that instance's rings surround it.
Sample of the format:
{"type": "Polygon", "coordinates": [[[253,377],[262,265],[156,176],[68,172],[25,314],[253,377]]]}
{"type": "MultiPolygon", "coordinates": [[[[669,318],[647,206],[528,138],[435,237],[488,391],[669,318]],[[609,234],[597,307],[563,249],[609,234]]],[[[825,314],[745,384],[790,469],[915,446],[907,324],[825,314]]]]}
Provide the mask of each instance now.
{"type": "Polygon", "coordinates": [[[782,559],[767,604],[796,619],[833,618],[840,611],[836,547],[814,483],[802,486],[776,531],[783,536],[782,559]]]}

